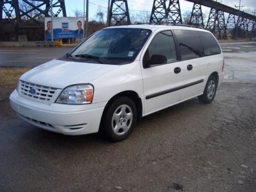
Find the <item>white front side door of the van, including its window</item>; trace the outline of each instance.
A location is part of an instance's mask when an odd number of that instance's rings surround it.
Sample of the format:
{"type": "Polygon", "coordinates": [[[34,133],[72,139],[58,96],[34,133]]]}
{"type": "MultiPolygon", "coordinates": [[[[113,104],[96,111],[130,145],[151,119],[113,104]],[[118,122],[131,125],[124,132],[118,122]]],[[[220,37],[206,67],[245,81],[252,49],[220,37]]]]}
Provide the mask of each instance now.
{"type": "Polygon", "coordinates": [[[180,100],[184,67],[177,59],[171,31],[157,33],[141,56],[144,87],[144,115],[180,100]]]}

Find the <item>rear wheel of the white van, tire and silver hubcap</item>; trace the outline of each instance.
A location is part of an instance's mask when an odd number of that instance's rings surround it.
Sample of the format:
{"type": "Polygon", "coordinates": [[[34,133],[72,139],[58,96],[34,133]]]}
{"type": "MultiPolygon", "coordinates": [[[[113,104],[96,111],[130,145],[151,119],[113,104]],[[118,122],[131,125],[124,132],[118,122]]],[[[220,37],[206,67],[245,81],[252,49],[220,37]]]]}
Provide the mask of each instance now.
{"type": "Polygon", "coordinates": [[[217,80],[215,76],[210,76],[206,82],[203,95],[198,96],[198,100],[202,103],[211,103],[216,95],[217,80]]]}

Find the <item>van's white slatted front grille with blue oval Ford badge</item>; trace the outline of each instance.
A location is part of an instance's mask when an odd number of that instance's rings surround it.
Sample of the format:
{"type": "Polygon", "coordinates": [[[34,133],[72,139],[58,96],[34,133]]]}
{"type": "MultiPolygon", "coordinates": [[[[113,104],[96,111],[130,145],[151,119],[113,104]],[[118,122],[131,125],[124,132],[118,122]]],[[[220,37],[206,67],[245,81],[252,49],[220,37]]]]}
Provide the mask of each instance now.
{"type": "Polygon", "coordinates": [[[26,97],[38,99],[41,101],[50,101],[57,89],[46,86],[40,86],[38,84],[29,83],[20,80],[19,86],[20,93],[26,97]],[[35,93],[31,93],[30,90],[34,89],[35,93]]]}

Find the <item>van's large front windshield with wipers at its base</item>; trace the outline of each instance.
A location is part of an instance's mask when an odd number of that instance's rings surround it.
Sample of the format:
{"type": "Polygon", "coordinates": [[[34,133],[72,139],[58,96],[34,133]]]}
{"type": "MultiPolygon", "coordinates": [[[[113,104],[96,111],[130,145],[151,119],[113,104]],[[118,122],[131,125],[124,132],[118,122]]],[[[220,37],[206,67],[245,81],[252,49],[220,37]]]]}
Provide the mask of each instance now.
{"type": "Polygon", "coordinates": [[[102,29],[69,54],[81,62],[122,65],[134,61],[151,34],[148,29],[102,29]]]}

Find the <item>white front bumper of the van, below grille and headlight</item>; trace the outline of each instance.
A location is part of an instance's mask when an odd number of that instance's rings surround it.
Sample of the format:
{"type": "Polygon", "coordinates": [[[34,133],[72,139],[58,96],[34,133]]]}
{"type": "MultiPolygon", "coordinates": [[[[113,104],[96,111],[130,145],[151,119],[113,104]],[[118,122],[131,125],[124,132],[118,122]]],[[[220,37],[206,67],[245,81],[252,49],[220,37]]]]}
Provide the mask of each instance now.
{"type": "Polygon", "coordinates": [[[10,104],[20,118],[37,127],[65,135],[83,135],[98,132],[106,102],[45,104],[24,98],[15,90],[10,95],[10,104]]]}

